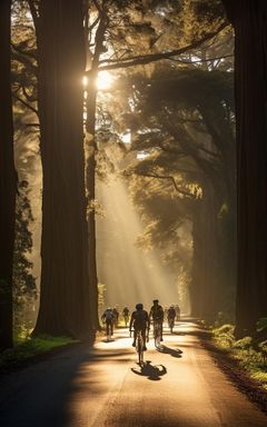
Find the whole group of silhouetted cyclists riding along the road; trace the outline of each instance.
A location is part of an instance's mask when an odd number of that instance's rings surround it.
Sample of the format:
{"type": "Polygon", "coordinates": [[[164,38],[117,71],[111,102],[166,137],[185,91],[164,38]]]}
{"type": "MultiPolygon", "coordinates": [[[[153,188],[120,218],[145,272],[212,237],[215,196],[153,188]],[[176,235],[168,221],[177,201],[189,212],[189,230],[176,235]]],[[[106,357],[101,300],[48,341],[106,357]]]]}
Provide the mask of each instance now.
{"type": "MultiPolygon", "coordinates": [[[[170,331],[172,332],[172,328],[175,326],[175,320],[180,319],[180,309],[178,306],[170,306],[166,310],[164,310],[162,306],[159,305],[158,299],[154,299],[152,306],[148,311],[144,309],[144,305],[141,302],[136,305],[136,310],[132,311],[130,317],[130,310],[128,307],[125,307],[122,310],[122,316],[125,319],[125,325],[127,326],[129,322],[129,330],[134,330],[134,341],[132,346],[136,347],[136,339],[138,331],[141,332],[142,340],[146,342],[148,340],[148,334],[150,329],[150,324],[157,325],[159,329],[159,340],[162,341],[162,332],[164,332],[164,319],[168,320],[168,325],[170,327],[170,331]]],[[[113,326],[118,325],[119,311],[117,308],[107,308],[101,317],[102,322],[106,324],[107,336],[113,335],[113,326]]],[[[146,344],[144,345],[144,350],[146,350],[146,344]]]]}

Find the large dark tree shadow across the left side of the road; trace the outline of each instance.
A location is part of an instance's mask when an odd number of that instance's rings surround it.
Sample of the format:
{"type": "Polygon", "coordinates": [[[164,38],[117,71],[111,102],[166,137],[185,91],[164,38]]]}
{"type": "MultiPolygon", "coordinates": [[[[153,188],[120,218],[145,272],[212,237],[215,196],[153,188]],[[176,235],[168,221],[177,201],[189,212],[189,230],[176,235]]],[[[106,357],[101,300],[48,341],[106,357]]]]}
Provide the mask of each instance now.
{"type": "Polygon", "coordinates": [[[101,395],[105,361],[113,368],[129,360],[131,349],[96,350],[88,345],[66,350],[21,371],[1,377],[1,427],[67,427],[69,403],[83,391],[101,395]],[[99,376],[95,373],[99,367],[99,376]]]}

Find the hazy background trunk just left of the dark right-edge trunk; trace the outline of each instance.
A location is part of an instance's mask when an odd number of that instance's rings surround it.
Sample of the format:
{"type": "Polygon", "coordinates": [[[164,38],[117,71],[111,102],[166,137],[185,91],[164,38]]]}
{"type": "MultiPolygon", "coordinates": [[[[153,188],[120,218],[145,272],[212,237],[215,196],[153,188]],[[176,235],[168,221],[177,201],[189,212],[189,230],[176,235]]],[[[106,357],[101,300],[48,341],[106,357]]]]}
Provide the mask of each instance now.
{"type": "Polygon", "coordinates": [[[220,197],[219,203],[226,203],[226,209],[219,216],[217,212],[218,239],[221,247],[219,270],[221,284],[224,284],[225,300],[220,309],[227,311],[228,315],[234,315],[234,304],[230,299],[235,295],[237,281],[236,140],[229,122],[224,117],[224,107],[218,105],[218,101],[215,98],[214,108],[205,102],[200,105],[199,110],[214,145],[221,155],[220,182],[216,182],[212,178],[210,181],[214,182],[215,193],[220,197]]]}

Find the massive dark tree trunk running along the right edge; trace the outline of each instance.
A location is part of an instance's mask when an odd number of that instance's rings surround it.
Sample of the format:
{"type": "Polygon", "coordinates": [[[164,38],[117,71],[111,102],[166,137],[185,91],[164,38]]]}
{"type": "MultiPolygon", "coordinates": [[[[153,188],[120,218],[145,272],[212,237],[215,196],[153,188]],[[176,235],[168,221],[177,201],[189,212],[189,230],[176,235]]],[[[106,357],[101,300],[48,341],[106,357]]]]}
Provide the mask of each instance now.
{"type": "Polygon", "coordinates": [[[224,0],[235,28],[237,121],[236,335],[267,316],[267,2],[224,0]]]}

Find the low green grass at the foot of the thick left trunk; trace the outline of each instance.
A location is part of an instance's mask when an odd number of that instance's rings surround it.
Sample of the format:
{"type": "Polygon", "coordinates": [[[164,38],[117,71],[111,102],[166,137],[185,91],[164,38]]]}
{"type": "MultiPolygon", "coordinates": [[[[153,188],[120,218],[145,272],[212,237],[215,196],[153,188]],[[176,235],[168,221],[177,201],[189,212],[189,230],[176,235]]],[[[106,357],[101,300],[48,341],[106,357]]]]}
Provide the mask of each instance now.
{"type": "Polygon", "coordinates": [[[48,335],[31,337],[31,330],[21,330],[14,337],[14,347],[0,352],[0,368],[21,365],[39,355],[51,352],[56,348],[79,342],[69,337],[51,337],[48,335]]]}

